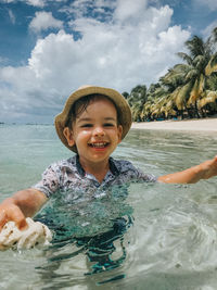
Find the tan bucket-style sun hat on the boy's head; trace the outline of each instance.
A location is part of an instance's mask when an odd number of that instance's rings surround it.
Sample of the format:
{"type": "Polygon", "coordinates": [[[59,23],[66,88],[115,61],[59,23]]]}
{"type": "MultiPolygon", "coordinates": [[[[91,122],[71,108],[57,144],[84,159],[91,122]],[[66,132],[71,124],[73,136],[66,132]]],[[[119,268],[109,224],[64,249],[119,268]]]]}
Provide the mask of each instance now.
{"type": "Polygon", "coordinates": [[[76,153],[77,153],[76,146],[73,146],[73,147],[68,146],[67,140],[63,134],[63,130],[65,128],[65,124],[66,124],[72,105],[80,98],[88,96],[88,94],[93,94],[93,93],[106,96],[108,99],[111,99],[115,103],[116,108],[118,109],[118,119],[119,119],[120,125],[123,126],[122,139],[124,139],[124,137],[127,135],[132,123],[131,110],[129,108],[129,104],[118,91],[114,89],[110,89],[110,88],[89,86],[89,85],[78,88],[76,91],[74,91],[68,97],[67,101],[65,102],[65,106],[62,113],[55,116],[55,129],[61,141],[69,150],[76,153]]]}

